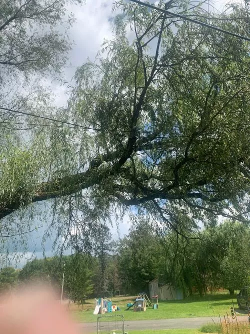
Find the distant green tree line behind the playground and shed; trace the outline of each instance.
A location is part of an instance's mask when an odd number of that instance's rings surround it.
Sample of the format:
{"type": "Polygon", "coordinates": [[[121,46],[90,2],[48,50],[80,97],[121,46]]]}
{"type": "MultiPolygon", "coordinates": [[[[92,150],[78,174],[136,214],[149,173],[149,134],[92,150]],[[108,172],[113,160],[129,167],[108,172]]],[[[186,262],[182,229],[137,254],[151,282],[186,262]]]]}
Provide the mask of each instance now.
{"type": "Polygon", "coordinates": [[[95,255],[33,259],[19,270],[2,268],[0,289],[37,279],[60,289],[64,266],[64,295],[79,303],[88,297],[147,291],[155,277],[180,287],[184,296],[214,288],[233,294],[250,284],[249,238],[249,227],[231,221],[190,235],[159,236],[142,219],[116,243],[103,228],[95,255]]]}

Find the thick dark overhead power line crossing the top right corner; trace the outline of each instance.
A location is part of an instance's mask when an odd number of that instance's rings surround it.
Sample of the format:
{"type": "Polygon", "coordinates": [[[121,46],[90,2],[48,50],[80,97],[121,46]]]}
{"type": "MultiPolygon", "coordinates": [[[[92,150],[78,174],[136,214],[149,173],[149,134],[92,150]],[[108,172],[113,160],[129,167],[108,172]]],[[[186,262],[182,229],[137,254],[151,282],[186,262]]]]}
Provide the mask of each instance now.
{"type": "Polygon", "coordinates": [[[145,6],[145,7],[148,7],[148,8],[151,8],[153,10],[156,10],[156,11],[159,11],[159,12],[162,12],[162,13],[165,13],[165,14],[168,14],[168,15],[171,15],[175,18],[180,18],[180,19],[183,19],[185,21],[190,21],[192,23],[195,23],[197,25],[200,25],[200,26],[203,26],[203,27],[207,27],[207,28],[210,28],[210,29],[213,29],[213,30],[216,30],[220,33],[223,33],[223,34],[227,34],[227,35],[231,35],[231,36],[234,36],[234,37],[237,37],[241,40],[245,40],[245,41],[248,41],[250,42],[250,38],[248,37],[245,37],[245,36],[241,36],[241,35],[238,35],[238,34],[234,34],[230,31],[227,31],[227,30],[224,30],[224,29],[220,29],[218,27],[215,27],[215,26],[212,26],[212,25],[209,25],[208,23],[204,23],[204,22],[201,22],[201,21],[198,21],[198,20],[194,20],[194,19],[191,19],[189,17],[186,17],[184,15],[181,15],[181,14],[177,14],[177,13],[172,13],[172,12],[169,12],[167,10],[164,10],[162,8],[159,8],[159,7],[156,7],[156,6],[153,6],[153,5],[150,5],[150,4],[146,4],[146,3],[142,3],[141,1],[139,0],[129,0],[133,3],[136,3],[138,5],[141,5],[141,6],[145,6]]]}

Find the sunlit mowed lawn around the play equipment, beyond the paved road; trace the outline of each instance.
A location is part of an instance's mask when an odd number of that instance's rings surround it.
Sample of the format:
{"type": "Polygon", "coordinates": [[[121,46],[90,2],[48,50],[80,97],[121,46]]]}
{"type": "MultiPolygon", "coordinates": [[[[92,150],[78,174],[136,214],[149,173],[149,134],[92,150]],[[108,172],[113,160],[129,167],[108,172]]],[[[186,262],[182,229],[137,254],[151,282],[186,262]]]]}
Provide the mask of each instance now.
{"type": "MultiPolygon", "coordinates": [[[[159,308],[152,309],[147,307],[145,312],[133,312],[133,309],[126,310],[126,304],[132,302],[134,297],[114,297],[112,303],[120,307],[120,311],[115,313],[105,313],[106,315],[122,314],[125,320],[143,320],[143,319],[169,319],[185,318],[197,316],[218,316],[230,313],[232,300],[237,311],[237,302],[227,294],[206,295],[204,297],[190,297],[184,300],[159,301],[159,308]]],[[[73,317],[82,322],[95,322],[98,315],[93,314],[95,300],[88,300],[86,304],[78,308],[71,305],[73,317]]]]}

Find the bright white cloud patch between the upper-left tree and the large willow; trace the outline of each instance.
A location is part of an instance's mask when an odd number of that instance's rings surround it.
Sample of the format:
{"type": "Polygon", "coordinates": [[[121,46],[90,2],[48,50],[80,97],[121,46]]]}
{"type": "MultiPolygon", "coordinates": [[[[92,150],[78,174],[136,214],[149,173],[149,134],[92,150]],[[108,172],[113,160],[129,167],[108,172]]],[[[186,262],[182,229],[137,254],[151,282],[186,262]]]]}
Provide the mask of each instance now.
{"type": "MultiPolygon", "coordinates": [[[[85,63],[87,58],[94,60],[104,39],[112,37],[109,21],[113,15],[112,1],[87,0],[82,7],[70,6],[68,12],[72,12],[76,20],[69,31],[69,38],[74,44],[68,55],[69,65],[64,69],[64,79],[70,82],[77,67],[85,63]]],[[[51,89],[55,95],[55,105],[64,106],[69,97],[66,86],[53,82],[51,89]]]]}

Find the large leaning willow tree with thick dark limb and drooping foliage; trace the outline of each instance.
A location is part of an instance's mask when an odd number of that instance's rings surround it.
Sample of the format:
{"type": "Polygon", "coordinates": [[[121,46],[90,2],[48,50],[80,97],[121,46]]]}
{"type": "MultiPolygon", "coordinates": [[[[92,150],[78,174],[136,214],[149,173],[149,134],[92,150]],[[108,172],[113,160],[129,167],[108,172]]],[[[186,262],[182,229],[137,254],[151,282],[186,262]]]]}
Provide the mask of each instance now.
{"type": "MultiPolygon", "coordinates": [[[[157,6],[249,37],[247,6],[157,6]]],[[[219,215],[247,221],[249,43],[131,2],[114,8],[113,39],[54,115],[75,127],[44,121],[2,158],[0,217],[50,200],[57,237],[77,248],[126,210],[183,235],[219,215]]]]}

